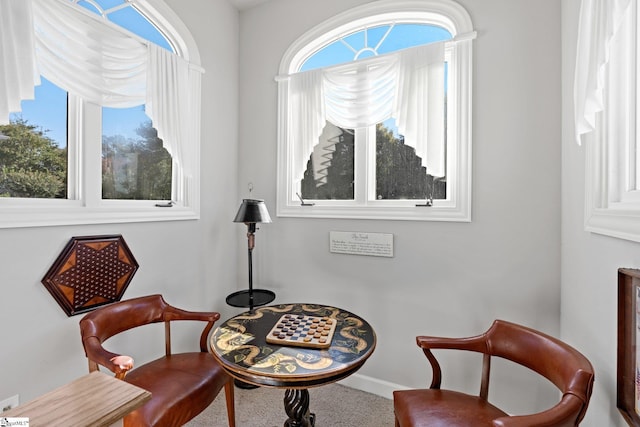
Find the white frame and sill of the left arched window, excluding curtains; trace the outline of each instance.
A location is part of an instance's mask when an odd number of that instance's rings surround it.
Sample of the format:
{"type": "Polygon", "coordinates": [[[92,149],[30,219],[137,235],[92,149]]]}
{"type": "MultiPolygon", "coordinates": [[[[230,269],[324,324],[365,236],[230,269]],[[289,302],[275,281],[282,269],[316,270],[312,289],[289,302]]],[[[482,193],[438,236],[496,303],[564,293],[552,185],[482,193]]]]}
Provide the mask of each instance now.
{"type": "MultiPolygon", "coordinates": [[[[134,0],[131,7],[156,25],[177,55],[189,61],[192,67],[200,67],[195,39],[163,0],[134,0]]],[[[154,200],[102,199],[102,109],[69,95],[67,199],[0,198],[0,229],[199,219],[201,105],[199,94],[190,96],[197,97],[198,111],[193,119],[193,138],[184,142],[189,145],[185,151],[193,156],[193,176],[184,176],[173,162],[171,207],[156,206],[159,201],[154,200]]]]}

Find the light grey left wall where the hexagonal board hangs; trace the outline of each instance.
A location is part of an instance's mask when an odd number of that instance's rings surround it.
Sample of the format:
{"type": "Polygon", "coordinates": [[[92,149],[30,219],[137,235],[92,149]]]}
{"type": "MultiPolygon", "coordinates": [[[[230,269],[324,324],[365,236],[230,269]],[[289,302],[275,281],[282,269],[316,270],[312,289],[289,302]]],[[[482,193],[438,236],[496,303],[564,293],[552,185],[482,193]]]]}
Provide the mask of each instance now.
{"type": "MultiPolygon", "coordinates": [[[[0,230],[0,400],[26,402],[87,373],[78,321],[41,279],[72,236],[122,234],[140,264],[124,298],[162,293],[169,303],[228,313],[237,282],[232,223],[237,174],[238,13],[226,2],[168,3],[198,43],[203,76],[202,211],[199,221],[0,230]],[[229,179],[229,177],[232,177],[229,179]]],[[[2,213],[0,212],[0,215],[2,213]]],[[[162,332],[157,353],[164,351],[162,332]]],[[[178,337],[176,337],[178,338],[178,337]]],[[[197,340],[192,348],[197,348],[197,340]]],[[[136,361],[150,357],[142,348],[136,361]]]]}

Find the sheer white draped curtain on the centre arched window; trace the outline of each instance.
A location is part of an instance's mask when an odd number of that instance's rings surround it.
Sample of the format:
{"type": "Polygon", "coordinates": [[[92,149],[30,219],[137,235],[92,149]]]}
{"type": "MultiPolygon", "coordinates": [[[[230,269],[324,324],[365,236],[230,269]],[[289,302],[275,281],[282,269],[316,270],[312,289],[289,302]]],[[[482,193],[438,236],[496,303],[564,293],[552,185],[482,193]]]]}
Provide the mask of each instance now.
{"type": "Polygon", "coordinates": [[[428,173],[444,176],[444,42],[300,72],[289,88],[294,177],[302,179],[325,121],[342,128],[395,118],[428,173]]]}

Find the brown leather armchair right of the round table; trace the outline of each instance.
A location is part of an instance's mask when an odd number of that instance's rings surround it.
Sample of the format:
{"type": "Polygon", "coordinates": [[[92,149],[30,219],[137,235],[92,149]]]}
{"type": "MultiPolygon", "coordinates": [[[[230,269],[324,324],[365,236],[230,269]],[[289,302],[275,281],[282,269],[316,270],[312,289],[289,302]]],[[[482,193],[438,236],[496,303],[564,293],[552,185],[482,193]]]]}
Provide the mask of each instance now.
{"type": "Polygon", "coordinates": [[[587,410],[594,380],[591,363],[569,345],[533,329],[496,320],[487,332],[476,337],[419,336],[416,341],[431,364],[433,378],[429,389],[394,391],[396,427],[575,427],[587,410]],[[483,353],[479,394],[441,390],[442,373],[432,349],[483,353]],[[518,416],[489,403],[492,356],[526,366],[549,379],[561,391],[559,402],[537,414],[518,416]]]}

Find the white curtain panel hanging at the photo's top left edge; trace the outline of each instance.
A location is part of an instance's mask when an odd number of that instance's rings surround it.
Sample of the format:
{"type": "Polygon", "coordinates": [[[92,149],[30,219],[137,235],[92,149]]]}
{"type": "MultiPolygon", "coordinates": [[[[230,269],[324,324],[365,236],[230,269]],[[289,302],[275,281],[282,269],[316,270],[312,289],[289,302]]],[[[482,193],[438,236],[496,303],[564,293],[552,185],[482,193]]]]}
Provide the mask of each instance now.
{"type": "Polygon", "coordinates": [[[20,111],[22,99],[33,99],[40,84],[36,71],[30,0],[0,0],[0,125],[20,111]]]}

